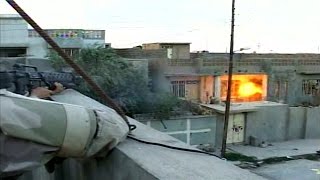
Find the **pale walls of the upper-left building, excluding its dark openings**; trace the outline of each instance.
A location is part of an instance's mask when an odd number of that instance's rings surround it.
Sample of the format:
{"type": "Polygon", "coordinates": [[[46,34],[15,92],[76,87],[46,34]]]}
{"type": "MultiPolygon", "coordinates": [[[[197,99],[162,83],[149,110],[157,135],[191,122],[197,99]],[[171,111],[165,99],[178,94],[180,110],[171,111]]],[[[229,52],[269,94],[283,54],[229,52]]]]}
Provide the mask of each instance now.
{"type": "MultiPolygon", "coordinates": [[[[27,49],[26,55],[38,58],[44,58],[48,53],[49,46],[47,43],[32,29],[28,30],[28,24],[19,15],[0,15],[0,47],[5,48],[19,48],[27,49]]],[[[46,30],[51,36],[54,31],[64,32],[78,30],[46,30]]],[[[52,37],[61,48],[86,48],[93,45],[105,45],[105,32],[100,30],[79,30],[86,33],[100,32],[99,38],[85,37],[84,35],[74,38],[58,38],[52,37]]],[[[4,49],[4,51],[7,49],[4,49]]],[[[8,51],[8,50],[7,50],[8,51]]],[[[1,53],[4,54],[4,53],[1,53]]],[[[25,52],[23,53],[25,55],[25,52]]],[[[5,56],[2,55],[2,56],[5,56]]]]}

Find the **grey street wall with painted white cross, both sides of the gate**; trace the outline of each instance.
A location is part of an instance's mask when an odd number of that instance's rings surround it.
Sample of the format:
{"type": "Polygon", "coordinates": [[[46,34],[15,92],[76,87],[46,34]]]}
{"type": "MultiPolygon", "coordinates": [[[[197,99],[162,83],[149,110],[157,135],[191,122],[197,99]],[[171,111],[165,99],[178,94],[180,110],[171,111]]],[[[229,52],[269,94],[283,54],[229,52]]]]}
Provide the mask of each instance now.
{"type": "MultiPolygon", "coordinates": [[[[258,108],[257,111],[245,114],[244,143],[246,144],[250,143],[250,136],[255,137],[257,143],[320,138],[320,107],[289,107],[286,104],[277,104],[262,105],[258,108]]],[[[138,119],[191,145],[213,144],[215,147],[220,147],[222,144],[223,114],[164,121],[138,119]],[[193,135],[194,130],[200,134],[193,135]],[[192,135],[188,137],[190,132],[192,135]]]]}

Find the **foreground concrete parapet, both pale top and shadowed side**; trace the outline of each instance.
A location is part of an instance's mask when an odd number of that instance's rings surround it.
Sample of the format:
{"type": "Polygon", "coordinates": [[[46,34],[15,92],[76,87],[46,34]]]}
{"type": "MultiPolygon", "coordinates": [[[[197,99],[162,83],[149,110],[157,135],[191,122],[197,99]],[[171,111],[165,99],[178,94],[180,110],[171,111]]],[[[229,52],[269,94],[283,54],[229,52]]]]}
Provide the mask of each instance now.
{"type": "MultiPolygon", "coordinates": [[[[139,139],[189,148],[177,139],[130,119],[139,139]]],[[[217,157],[179,151],[126,139],[105,158],[75,161],[68,159],[48,174],[41,167],[18,180],[156,180],[156,179],[255,179],[263,178],[217,157]]]]}

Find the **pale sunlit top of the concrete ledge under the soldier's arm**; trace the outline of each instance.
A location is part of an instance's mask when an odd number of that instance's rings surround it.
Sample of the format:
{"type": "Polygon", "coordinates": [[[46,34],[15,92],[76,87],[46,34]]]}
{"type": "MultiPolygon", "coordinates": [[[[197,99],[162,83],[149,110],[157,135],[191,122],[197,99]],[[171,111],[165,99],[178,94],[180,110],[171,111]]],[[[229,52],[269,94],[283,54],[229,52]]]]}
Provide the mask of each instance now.
{"type": "MultiPolygon", "coordinates": [[[[131,122],[137,125],[133,134],[139,139],[192,148],[139,122],[131,122]]],[[[120,144],[117,150],[152,175],[152,179],[263,179],[217,157],[147,145],[131,139],[120,144]]]]}

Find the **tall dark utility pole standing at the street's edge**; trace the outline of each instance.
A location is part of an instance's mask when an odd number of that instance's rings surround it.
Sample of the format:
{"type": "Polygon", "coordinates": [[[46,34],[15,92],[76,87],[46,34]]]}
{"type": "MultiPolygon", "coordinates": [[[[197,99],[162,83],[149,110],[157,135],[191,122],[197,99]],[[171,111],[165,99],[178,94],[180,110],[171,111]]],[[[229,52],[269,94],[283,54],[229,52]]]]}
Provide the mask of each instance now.
{"type": "Polygon", "coordinates": [[[224,114],[224,126],[223,126],[223,138],[221,147],[221,156],[225,157],[227,136],[228,136],[228,124],[230,114],[230,101],[231,101],[231,90],[232,90],[232,70],[233,70],[233,45],[234,45],[234,11],[235,11],[235,0],[232,0],[232,18],[231,18],[231,39],[230,39],[230,53],[229,53],[229,71],[228,71],[228,90],[226,99],[226,110],[224,114]]]}

